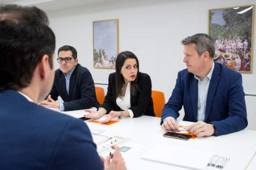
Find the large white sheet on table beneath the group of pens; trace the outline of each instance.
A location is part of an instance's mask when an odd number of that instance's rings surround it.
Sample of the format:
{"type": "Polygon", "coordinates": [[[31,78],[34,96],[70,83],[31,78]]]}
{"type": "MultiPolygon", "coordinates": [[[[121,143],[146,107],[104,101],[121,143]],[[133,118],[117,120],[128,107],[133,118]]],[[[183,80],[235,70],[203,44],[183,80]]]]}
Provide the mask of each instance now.
{"type": "MultiPolygon", "coordinates": [[[[142,155],[142,158],[150,161],[157,161],[160,163],[172,164],[189,169],[211,169],[218,170],[220,168],[207,166],[211,163],[211,158],[217,156],[218,158],[228,158],[228,164],[224,166],[223,170],[246,169],[250,161],[255,155],[255,150],[242,150],[237,153],[228,153],[225,150],[218,152],[208,152],[193,148],[177,147],[175,145],[156,145],[142,155]]],[[[220,163],[213,161],[213,163],[220,163]]],[[[221,163],[225,164],[225,163],[221,163]]]]}

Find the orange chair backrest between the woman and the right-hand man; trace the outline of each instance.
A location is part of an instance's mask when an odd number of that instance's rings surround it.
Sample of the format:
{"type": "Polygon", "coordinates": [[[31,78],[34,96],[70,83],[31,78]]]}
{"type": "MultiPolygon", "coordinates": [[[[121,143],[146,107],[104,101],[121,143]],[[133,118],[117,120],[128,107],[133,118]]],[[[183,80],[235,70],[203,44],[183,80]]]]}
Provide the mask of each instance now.
{"type": "Polygon", "coordinates": [[[153,107],[156,117],[162,116],[162,111],[165,105],[164,93],[160,91],[152,91],[151,97],[153,99],[153,107]]]}

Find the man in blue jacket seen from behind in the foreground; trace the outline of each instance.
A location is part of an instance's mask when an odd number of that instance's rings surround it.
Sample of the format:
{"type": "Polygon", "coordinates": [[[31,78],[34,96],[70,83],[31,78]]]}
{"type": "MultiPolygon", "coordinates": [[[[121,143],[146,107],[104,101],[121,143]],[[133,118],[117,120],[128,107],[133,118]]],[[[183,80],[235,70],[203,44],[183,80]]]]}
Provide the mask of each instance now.
{"type": "Polygon", "coordinates": [[[0,6],[1,169],[126,169],[106,160],[79,119],[41,107],[54,79],[55,36],[36,7],[0,6]]]}

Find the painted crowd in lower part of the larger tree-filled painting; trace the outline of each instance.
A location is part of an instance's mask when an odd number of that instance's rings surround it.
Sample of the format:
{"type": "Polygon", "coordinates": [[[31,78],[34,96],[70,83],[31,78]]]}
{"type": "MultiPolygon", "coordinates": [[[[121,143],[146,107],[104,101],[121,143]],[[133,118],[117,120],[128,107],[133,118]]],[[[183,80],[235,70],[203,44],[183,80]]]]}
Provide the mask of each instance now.
{"type": "Polygon", "coordinates": [[[221,39],[215,41],[215,62],[236,71],[251,70],[250,42],[247,39],[221,39]]]}

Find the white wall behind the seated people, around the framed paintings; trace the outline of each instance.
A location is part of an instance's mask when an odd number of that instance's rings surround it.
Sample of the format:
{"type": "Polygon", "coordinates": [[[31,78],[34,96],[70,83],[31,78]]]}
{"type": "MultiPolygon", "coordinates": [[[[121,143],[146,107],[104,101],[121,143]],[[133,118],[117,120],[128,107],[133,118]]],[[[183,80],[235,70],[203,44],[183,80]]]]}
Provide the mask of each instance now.
{"type": "MultiPolygon", "coordinates": [[[[151,76],[152,89],[163,91],[168,100],[177,71],[186,68],[182,63],[181,39],[195,33],[208,33],[208,9],[250,4],[255,4],[255,0],[120,1],[48,15],[56,33],[56,49],[65,44],[77,48],[79,62],[91,71],[95,83],[108,83],[108,75],[114,70],[93,68],[92,22],[118,18],[119,51],[134,52],[139,58],[140,71],[151,76]]],[[[255,51],[254,47],[254,55],[255,51]]],[[[252,73],[242,74],[246,94],[256,94],[255,62],[253,60],[252,73]]],[[[58,68],[57,62],[55,64],[58,68]]]]}

